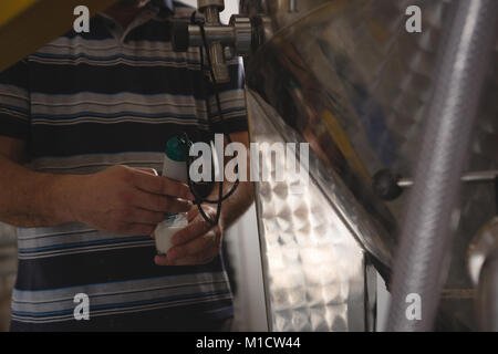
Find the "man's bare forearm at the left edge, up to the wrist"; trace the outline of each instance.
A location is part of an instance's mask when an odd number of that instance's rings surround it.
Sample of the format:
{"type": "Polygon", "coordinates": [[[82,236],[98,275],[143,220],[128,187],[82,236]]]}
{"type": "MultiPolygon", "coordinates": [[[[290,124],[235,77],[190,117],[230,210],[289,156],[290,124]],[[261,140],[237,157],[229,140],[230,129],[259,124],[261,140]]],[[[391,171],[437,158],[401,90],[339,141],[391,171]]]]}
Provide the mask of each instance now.
{"type": "Polygon", "coordinates": [[[1,155],[0,170],[0,221],[18,227],[72,221],[69,187],[79,176],[32,171],[1,155]]]}

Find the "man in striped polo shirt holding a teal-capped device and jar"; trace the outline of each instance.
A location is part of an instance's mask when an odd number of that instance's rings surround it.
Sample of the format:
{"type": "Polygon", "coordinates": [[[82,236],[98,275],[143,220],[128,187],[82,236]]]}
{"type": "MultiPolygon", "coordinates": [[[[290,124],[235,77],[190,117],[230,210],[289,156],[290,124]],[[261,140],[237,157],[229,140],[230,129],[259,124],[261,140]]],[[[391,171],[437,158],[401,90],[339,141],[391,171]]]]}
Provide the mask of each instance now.
{"type": "MultiPolygon", "coordinates": [[[[90,33],[70,32],[0,74],[0,220],[19,227],[11,330],[227,329],[219,250],[252,188],[240,184],[211,227],[187,186],[153,170],[170,137],[221,132],[212,96],[209,131],[198,49],[175,53],[169,42],[170,18],[190,13],[122,1],[90,33]],[[159,257],[151,235],[164,212],[180,211],[189,225],[159,257]]],[[[247,146],[241,70],[229,63],[227,133],[247,146]]]]}

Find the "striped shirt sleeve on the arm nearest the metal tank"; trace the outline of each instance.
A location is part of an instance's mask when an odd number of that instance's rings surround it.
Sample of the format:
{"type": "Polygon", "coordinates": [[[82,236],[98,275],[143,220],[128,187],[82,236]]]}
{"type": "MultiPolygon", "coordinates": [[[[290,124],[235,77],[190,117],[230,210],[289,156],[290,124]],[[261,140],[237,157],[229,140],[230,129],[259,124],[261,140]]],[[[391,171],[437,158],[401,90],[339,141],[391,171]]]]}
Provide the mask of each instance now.
{"type": "Polygon", "coordinates": [[[231,80],[227,84],[219,85],[222,121],[214,92],[211,90],[209,92],[214,133],[237,133],[248,129],[243,64],[239,58],[229,58],[227,64],[231,80]]]}

